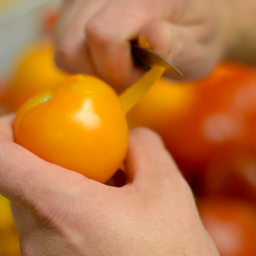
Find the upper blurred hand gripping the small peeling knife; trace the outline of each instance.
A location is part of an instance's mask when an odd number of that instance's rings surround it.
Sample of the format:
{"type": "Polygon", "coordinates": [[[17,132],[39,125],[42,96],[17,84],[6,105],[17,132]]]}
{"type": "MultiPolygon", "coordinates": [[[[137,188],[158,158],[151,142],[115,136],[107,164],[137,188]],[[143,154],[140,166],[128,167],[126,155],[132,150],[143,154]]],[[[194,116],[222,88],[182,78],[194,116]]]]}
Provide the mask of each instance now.
{"type": "Polygon", "coordinates": [[[56,61],[65,70],[94,74],[120,91],[143,73],[134,67],[130,40],[145,36],[153,50],[184,74],[168,76],[202,77],[224,56],[227,37],[232,41],[224,2],[65,0],[56,61]]]}

